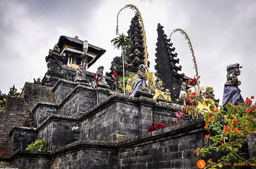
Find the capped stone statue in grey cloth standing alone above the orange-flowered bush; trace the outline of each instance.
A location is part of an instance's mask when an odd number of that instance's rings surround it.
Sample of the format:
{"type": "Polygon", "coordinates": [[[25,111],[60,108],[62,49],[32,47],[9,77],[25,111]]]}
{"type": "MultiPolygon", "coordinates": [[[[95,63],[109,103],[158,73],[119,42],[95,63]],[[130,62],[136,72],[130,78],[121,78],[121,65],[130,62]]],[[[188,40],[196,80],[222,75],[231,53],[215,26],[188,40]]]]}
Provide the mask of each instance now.
{"type": "Polygon", "coordinates": [[[241,81],[238,80],[237,76],[240,75],[238,63],[227,66],[227,83],[224,85],[224,94],[223,94],[223,105],[232,103],[236,105],[239,102],[244,103],[244,99],[240,94],[241,90],[238,86],[241,84],[241,81]]]}

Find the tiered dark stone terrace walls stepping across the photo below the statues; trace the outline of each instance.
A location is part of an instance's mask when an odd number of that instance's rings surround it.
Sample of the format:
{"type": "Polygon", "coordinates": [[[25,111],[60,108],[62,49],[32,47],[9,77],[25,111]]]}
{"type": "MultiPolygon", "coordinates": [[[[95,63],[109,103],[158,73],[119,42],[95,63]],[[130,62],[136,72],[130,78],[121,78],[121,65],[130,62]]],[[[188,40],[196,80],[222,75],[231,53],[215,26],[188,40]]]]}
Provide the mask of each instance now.
{"type": "MultiPolygon", "coordinates": [[[[31,89],[25,87],[23,91],[29,93],[31,89]]],[[[11,130],[6,130],[9,138],[6,161],[13,167],[197,168],[199,158],[193,151],[208,145],[202,118],[169,126],[182,106],[163,100],[156,102],[151,94],[141,92],[138,98],[133,98],[99,88],[97,104],[96,89],[88,85],[58,80],[49,89],[38,88],[42,98],[34,106],[30,103],[35,127],[24,127],[17,122],[11,130]],[[50,92],[45,94],[45,89],[50,92]],[[153,122],[164,122],[167,126],[147,131],[153,122]],[[27,145],[36,139],[47,140],[50,152],[26,151],[27,145]]],[[[27,96],[24,93],[21,96],[12,98],[20,103],[12,109],[28,116],[24,111],[28,109],[27,96]]],[[[254,145],[255,140],[248,144],[254,145]]],[[[248,154],[255,156],[254,151],[249,150],[248,154]]],[[[208,158],[213,155],[203,159],[208,158]]]]}

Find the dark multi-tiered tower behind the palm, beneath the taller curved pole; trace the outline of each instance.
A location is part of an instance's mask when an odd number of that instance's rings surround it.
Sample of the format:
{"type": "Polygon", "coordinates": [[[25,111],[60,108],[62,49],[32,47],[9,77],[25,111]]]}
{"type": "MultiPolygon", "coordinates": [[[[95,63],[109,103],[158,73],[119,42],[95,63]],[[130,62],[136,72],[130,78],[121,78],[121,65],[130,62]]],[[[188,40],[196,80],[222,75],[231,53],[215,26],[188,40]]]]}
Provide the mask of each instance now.
{"type": "MultiPolygon", "coordinates": [[[[140,64],[145,64],[144,59],[144,46],[143,46],[143,33],[142,27],[139,21],[139,14],[136,13],[135,17],[131,19],[130,29],[127,31],[128,38],[132,42],[132,47],[127,49],[125,53],[125,74],[136,73],[139,69],[140,64]]],[[[148,63],[149,65],[149,63],[148,63]]],[[[117,74],[122,75],[122,58],[115,57],[111,62],[110,73],[108,76],[112,75],[112,71],[116,69],[117,74]]]]}

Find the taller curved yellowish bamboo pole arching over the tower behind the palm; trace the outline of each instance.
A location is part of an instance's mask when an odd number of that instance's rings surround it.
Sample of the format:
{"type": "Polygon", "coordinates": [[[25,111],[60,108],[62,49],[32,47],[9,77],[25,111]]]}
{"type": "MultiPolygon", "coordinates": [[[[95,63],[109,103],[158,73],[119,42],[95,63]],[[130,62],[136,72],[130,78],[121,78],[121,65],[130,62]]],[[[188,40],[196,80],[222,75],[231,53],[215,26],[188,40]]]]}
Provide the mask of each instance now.
{"type": "Polygon", "coordinates": [[[124,8],[120,9],[119,13],[117,14],[117,17],[116,17],[116,35],[119,34],[119,30],[118,30],[118,17],[119,17],[119,14],[125,8],[129,8],[129,9],[135,10],[139,14],[139,18],[140,18],[140,22],[141,22],[141,27],[142,27],[142,33],[143,33],[143,40],[144,40],[144,44],[143,45],[144,45],[144,53],[145,53],[145,65],[146,65],[146,69],[147,69],[147,44],[146,44],[145,27],[144,27],[143,19],[141,17],[141,13],[140,13],[139,9],[134,4],[127,4],[124,8]]]}

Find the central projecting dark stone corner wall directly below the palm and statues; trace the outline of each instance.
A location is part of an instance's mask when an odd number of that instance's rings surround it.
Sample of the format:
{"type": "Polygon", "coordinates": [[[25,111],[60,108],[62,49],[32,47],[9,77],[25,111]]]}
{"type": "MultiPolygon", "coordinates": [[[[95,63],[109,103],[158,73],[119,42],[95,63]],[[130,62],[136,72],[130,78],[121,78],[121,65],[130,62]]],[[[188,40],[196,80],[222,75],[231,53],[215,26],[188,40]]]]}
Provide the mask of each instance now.
{"type": "Polygon", "coordinates": [[[138,107],[119,101],[102,103],[81,117],[80,140],[112,141],[115,134],[139,135],[138,107]]]}

